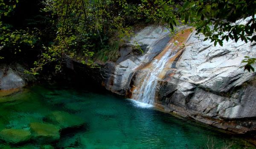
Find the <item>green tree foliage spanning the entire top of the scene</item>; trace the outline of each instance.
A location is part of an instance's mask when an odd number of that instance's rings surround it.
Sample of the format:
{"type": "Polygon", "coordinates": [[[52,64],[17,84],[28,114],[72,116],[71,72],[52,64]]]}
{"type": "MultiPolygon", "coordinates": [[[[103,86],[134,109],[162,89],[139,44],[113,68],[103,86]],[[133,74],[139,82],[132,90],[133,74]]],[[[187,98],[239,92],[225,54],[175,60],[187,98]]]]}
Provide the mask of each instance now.
{"type": "MultiPolygon", "coordinates": [[[[95,67],[95,60],[115,61],[123,39],[133,36],[132,28],[142,22],[160,23],[171,31],[191,25],[214,45],[230,39],[254,42],[254,8],[255,0],[0,0],[0,58],[19,59],[24,55],[17,53],[26,53],[35,61],[33,74],[49,64],[61,70],[70,58],[95,67]],[[21,17],[30,21],[17,25],[10,20],[23,13],[24,4],[36,10],[21,17]]],[[[244,69],[254,71],[254,58],[243,62],[244,69]]]]}

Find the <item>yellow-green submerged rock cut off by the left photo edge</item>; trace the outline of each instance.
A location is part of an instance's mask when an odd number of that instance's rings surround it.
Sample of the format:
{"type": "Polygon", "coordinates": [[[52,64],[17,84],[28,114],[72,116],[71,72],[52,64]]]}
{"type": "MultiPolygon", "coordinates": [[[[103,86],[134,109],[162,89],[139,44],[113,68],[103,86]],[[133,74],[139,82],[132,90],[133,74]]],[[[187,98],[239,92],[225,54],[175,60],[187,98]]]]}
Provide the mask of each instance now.
{"type": "Polygon", "coordinates": [[[0,131],[0,138],[7,143],[22,143],[29,141],[31,133],[25,129],[3,129],[0,131]]]}

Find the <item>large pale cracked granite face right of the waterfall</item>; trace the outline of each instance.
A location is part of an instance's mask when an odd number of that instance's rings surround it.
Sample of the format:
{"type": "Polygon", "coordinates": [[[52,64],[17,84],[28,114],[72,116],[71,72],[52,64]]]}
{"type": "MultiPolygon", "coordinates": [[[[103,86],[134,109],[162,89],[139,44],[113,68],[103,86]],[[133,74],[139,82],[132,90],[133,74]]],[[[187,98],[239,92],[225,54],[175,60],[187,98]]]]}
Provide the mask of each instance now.
{"type": "Polygon", "coordinates": [[[256,130],[256,73],[240,68],[244,56],[256,57],[255,43],[230,40],[214,47],[203,39],[192,34],[176,69],[159,80],[155,102],[236,133],[256,130]]]}

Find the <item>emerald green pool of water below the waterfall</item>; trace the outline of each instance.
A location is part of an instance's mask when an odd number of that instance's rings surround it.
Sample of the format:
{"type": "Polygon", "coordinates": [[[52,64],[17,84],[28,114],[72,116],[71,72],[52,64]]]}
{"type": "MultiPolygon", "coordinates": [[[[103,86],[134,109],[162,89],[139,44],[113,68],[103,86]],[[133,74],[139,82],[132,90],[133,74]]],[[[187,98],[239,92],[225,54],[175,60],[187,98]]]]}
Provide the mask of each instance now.
{"type": "Polygon", "coordinates": [[[210,127],[140,107],[134,101],[109,93],[71,87],[34,86],[1,97],[2,129],[28,130],[32,138],[18,144],[2,141],[1,149],[207,149],[212,141],[216,149],[229,143],[234,144],[234,149],[244,148],[241,139],[210,127]],[[63,119],[66,122],[76,122],[79,117],[85,123],[61,130],[60,138],[55,141],[35,138],[31,123],[47,124],[47,115],[56,111],[74,115],[63,119]]]}

